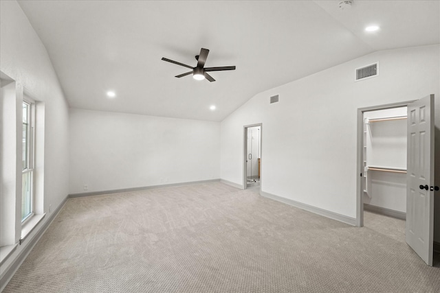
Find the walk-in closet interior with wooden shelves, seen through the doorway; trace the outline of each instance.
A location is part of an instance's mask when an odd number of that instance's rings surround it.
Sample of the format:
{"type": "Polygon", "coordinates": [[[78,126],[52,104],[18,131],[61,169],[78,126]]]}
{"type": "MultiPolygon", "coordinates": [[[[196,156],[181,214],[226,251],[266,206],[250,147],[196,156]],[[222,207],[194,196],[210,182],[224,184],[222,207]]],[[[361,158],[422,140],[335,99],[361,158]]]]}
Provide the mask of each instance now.
{"type": "Polygon", "coordinates": [[[406,217],[406,107],[364,113],[364,209],[406,217]]]}

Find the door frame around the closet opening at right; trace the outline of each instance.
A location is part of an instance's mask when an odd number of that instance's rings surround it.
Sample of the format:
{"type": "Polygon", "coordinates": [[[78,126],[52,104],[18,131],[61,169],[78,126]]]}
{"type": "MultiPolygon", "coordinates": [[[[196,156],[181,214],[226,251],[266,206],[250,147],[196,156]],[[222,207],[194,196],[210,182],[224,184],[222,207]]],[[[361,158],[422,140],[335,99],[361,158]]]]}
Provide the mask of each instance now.
{"type": "Polygon", "coordinates": [[[364,173],[363,167],[363,149],[364,149],[364,112],[374,111],[374,110],[385,110],[391,108],[406,107],[408,104],[417,101],[414,99],[407,102],[398,102],[394,104],[385,104],[380,106],[370,106],[364,108],[358,108],[358,174],[357,174],[357,197],[356,197],[356,226],[364,226],[364,200],[363,194],[364,189],[362,188],[362,174],[364,173]]]}

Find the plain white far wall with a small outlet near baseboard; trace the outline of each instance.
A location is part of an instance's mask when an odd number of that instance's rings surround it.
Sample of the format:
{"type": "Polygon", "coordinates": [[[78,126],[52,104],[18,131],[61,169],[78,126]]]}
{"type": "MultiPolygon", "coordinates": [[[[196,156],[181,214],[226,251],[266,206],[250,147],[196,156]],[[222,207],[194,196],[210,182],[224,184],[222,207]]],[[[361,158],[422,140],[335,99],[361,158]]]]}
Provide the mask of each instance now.
{"type": "Polygon", "coordinates": [[[69,134],[70,194],[220,178],[219,122],[72,108],[69,134]]]}

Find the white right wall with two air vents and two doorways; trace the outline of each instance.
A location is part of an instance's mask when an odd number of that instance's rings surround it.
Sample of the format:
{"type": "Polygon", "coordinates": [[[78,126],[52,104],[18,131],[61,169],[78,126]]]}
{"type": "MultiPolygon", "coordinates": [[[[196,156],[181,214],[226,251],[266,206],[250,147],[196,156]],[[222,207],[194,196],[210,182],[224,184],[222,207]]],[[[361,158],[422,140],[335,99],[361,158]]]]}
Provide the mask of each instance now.
{"type": "Polygon", "coordinates": [[[439,45],[378,51],[255,95],[221,122],[221,178],[242,184],[243,126],[261,122],[262,191],[355,218],[357,109],[434,93],[438,133],[439,53],[439,45]],[[354,82],[356,68],[377,61],[379,76],[354,82]]]}

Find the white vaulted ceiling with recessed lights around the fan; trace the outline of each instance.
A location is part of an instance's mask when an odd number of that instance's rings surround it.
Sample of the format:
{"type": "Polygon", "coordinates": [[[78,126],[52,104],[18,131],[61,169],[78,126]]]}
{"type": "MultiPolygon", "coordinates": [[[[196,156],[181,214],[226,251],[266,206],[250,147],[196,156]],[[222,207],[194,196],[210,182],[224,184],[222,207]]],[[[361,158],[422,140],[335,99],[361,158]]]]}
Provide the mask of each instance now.
{"type": "Polygon", "coordinates": [[[373,51],[440,43],[440,1],[339,2],[19,1],[71,107],[210,121],[373,51]],[[366,33],[370,24],[380,31],[366,33]],[[236,70],[197,81],[175,78],[189,70],[161,60],[195,66],[201,47],[206,67],[236,70]]]}

